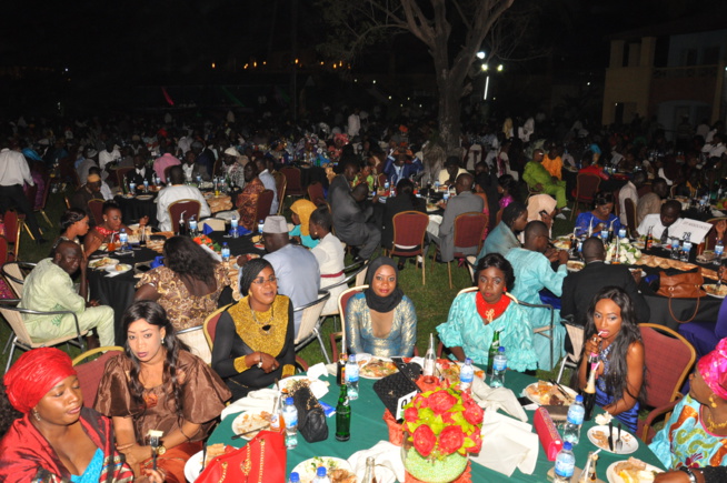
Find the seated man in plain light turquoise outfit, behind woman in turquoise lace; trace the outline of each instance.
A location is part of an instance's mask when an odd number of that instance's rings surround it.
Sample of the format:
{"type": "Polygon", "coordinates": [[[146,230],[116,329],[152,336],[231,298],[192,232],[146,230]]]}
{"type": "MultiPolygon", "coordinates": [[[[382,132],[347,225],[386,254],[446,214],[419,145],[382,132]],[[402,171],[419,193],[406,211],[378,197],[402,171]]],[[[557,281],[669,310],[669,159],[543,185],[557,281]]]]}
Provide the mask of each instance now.
{"type": "MultiPolygon", "coordinates": [[[[512,264],[515,271],[515,286],[508,291],[519,301],[532,304],[541,304],[540,291],[548,289],[556,296],[562,294],[562,280],[568,274],[568,252],[565,250],[549,250],[548,227],[541,221],[531,221],[525,228],[525,243],[522,248],[511,249],[505,258],[512,264]],[[557,271],[554,271],[550,263],[558,262],[557,271]]],[[[532,329],[540,329],[550,324],[550,311],[548,309],[526,308],[530,316],[532,329]]],[[[557,364],[562,356],[564,339],[566,330],[558,323],[559,311],[554,314],[555,328],[552,340],[552,364],[557,364]]],[[[547,332],[546,332],[547,334],[547,332]]],[[[550,335],[550,334],[549,334],[550,335]]],[[[552,369],[550,365],[550,343],[545,336],[537,335],[532,339],[535,352],[538,354],[538,366],[545,371],[552,369]]]]}

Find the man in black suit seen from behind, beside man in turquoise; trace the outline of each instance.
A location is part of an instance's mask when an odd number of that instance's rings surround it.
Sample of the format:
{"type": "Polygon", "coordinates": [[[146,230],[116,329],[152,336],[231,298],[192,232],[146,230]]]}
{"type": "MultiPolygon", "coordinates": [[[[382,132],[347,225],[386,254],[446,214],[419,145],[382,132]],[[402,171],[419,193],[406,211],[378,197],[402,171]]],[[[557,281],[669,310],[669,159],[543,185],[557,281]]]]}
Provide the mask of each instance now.
{"type": "Polygon", "coordinates": [[[649,305],[639,293],[637,283],[641,280],[640,271],[631,275],[624,265],[607,265],[604,242],[589,238],[584,242],[586,266],[579,272],[569,273],[562,281],[562,316],[574,315],[574,322],[585,326],[590,303],[598,292],[606,286],[620,286],[634,302],[637,322],[649,321],[649,305]]]}

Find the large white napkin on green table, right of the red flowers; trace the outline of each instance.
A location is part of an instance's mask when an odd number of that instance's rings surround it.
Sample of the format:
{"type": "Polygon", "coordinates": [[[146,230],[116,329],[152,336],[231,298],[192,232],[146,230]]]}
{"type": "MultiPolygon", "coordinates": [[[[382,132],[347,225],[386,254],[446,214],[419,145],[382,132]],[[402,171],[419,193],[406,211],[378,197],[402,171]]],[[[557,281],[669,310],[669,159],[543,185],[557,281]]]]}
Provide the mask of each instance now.
{"type": "Polygon", "coordinates": [[[532,474],[540,445],[530,424],[496,411],[485,411],[481,434],[482,450],[471,456],[472,461],[507,476],[511,476],[516,467],[532,474]]]}

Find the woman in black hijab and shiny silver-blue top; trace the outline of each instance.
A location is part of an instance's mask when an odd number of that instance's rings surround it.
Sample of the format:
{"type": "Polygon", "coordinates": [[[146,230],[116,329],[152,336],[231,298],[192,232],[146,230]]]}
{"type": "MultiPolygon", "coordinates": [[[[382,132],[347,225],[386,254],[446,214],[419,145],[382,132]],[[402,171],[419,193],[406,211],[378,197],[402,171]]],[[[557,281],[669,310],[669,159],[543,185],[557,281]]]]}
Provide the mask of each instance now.
{"type": "Polygon", "coordinates": [[[346,306],[346,342],[349,353],[390,358],[412,355],[417,342],[414,303],[398,285],[396,262],[379,256],[369,264],[366,283],[346,306]]]}

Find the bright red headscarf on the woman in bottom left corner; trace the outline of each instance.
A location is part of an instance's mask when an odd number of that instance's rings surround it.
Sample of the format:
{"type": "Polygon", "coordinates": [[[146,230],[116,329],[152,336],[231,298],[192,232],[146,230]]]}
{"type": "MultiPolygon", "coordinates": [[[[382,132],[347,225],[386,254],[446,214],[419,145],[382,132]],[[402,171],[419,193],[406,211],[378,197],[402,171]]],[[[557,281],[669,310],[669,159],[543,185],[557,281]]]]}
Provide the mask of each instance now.
{"type": "Polygon", "coordinates": [[[6,373],[3,383],[10,404],[27,414],[48,391],[71,375],[76,370],[66,352],[41,348],[22,354],[6,373]]]}

